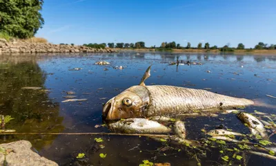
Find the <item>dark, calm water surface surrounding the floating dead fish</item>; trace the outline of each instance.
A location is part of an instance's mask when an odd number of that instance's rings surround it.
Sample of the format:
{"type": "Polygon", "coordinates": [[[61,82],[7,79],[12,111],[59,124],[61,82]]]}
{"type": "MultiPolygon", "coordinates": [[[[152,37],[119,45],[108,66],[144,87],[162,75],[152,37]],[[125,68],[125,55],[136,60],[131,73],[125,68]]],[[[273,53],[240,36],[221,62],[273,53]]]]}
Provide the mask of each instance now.
{"type": "MultiPolygon", "coordinates": [[[[1,55],[0,56],[0,113],[14,120],[6,129],[18,132],[83,133],[110,132],[102,124],[102,104],[130,86],[139,84],[146,68],[153,64],[151,77],[146,84],[166,84],[193,89],[210,88],[208,91],[258,99],[276,105],[276,55],[213,55],[171,53],[94,53],[94,54],[50,54],[50,55],[1,55]],[[202,65],[168,66],[169,62],[190,60],[202,65]],[[105,60],[108,66],[95,62],[105,60]],[[113,66],[124,66],[123,70],[113,66]],[[82,68],[72,71],[72,68],[82,68]],[[108,70],[103,70],[107,68],[108,70]],[[207,73],[206,71],[210,71],[207,73]],[[39,86],[48,91],[21,89],[24,86],[39,86]],[[74,91],[84,102],[61,102],[66,92],[74,91]]],[[[276,114],[276,109],[248,107],[276,114]]],[[[249,133],[235,114],[218,118],[187,118],[188,139],[206,138],[201,129],[215,129],[223,124],[233,131],[249,133]]],[[[46,136],[17,135],[1,136],[0,143],[14,140],[30,140],[41,156],[54,160],[59,165],[139,165],[142,160],[171,165],[197,165],[197,160],[188,156],[180,147],[157,151],[166,147],[138,136],[46,136]],[[105,147],[99,148],[95,138],[103,138],[105,147]],[[85,158],[75,158],[77,154],[85,158]],[[100,158],[99,154],[107,154],[100,158]]],[[[276,142],[276,136],[271,138],[276,142]]],[[[201,165],[223,164],[219,149],[206,152],[200,158],[201,165]],[[217,162],[217,163],[216,163],[217,162]]],[[[251,156],[248,165],[275,165],[274,160],[251,156]]]]}

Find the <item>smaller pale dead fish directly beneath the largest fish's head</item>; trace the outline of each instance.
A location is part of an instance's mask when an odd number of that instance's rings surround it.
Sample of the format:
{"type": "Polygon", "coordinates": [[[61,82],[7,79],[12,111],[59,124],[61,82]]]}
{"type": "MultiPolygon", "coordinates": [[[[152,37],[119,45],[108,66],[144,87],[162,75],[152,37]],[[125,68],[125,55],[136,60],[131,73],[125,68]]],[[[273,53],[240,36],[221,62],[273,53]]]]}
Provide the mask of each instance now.
{"type": "Polygon", "coordinates": [[[112,131],[124,133],[169,133],[170,128],[145,118],[130,118],[108,124],[112,131]]]}

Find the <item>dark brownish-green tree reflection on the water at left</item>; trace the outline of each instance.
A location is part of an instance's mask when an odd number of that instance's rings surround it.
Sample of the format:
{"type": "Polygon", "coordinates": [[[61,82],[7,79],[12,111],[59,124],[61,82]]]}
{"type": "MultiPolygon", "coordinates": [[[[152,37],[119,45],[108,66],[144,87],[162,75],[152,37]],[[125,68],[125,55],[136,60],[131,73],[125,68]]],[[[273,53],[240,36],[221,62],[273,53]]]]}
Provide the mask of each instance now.
{"type": "MultiPolygon", "coordinates": [[[[61,132],[63,117],[59,116],[59,104],[48,98],[43,84],[46,73],[35,62],[0,64],[0,114],[10,115],[14,120],[7,129],[17,132],[61,132]],[[39,90],[21,89],[24,86],[42,87],[39,90]]],[[[1,136],[7,142],[30,140],[36,149],[52,144],[57,136],[1,136]]],[[[1,143],[4,139],[1,139],[1,143]]]]}

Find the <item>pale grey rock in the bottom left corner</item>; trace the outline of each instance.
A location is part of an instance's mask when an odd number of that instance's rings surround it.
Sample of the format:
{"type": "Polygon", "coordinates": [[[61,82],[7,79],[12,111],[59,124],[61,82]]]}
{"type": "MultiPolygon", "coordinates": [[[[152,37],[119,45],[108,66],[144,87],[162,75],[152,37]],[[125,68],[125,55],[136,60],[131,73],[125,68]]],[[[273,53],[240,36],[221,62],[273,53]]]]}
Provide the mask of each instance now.
{"type": "Polygon", "coordinates": [[[30,148],[32,144],[27,140],[19,140],[16,142],[10,142],[8,144],[1,144],[1,148],[6,151],[0,152],[0,164],[12,165],[12,166],[26,166],[26,165],[49,165],[58,166],[57,163],[47,158],[39,156],[39,154],[32,151],[30,148]]]}

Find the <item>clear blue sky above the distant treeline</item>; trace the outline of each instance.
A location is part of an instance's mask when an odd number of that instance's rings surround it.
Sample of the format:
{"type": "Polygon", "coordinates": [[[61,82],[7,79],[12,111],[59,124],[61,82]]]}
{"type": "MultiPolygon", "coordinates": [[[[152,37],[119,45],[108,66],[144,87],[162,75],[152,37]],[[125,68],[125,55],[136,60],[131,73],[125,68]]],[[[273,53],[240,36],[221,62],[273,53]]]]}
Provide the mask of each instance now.
{"type": "Polygon", "coordinates": [[[275,0],[45,0],[37,37],[59,43],[276,44],[275,0]]]}

